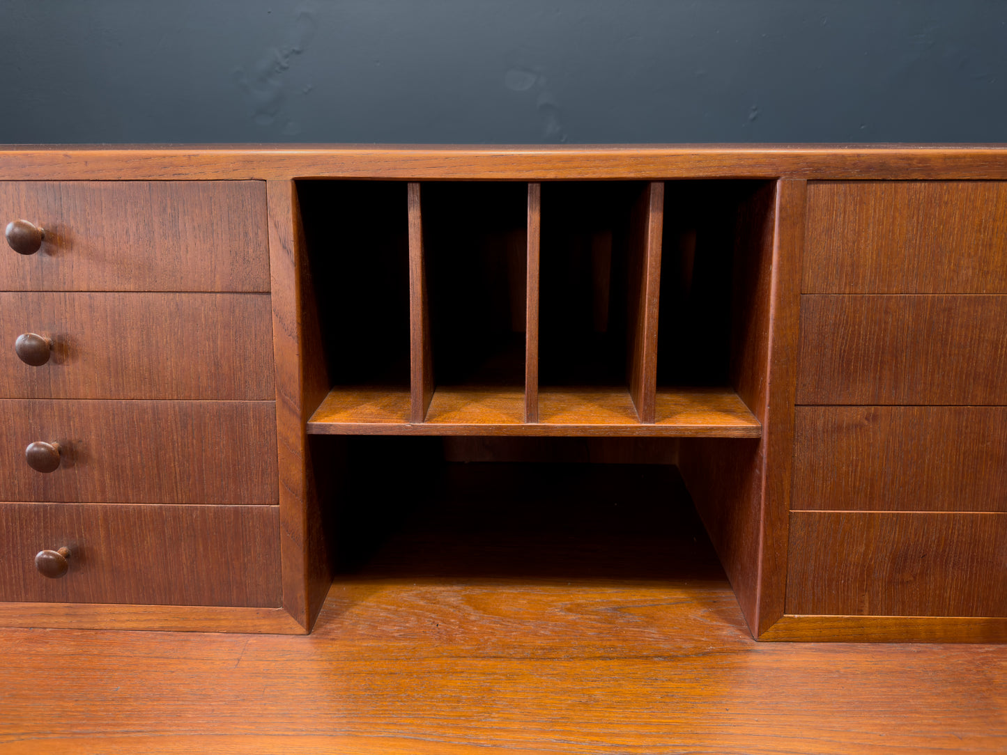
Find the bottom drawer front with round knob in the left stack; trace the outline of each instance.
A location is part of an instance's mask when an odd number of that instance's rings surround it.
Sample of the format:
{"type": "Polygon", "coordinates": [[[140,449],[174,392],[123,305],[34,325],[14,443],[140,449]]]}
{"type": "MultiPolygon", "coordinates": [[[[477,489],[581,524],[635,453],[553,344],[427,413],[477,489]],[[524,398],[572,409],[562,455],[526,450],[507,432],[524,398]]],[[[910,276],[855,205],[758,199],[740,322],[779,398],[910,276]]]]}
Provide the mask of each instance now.
{"type": "Polygon", "coordinates": [[[277,506],[0,503],[0,601],[279,606],[279,535],[277,506]]]}

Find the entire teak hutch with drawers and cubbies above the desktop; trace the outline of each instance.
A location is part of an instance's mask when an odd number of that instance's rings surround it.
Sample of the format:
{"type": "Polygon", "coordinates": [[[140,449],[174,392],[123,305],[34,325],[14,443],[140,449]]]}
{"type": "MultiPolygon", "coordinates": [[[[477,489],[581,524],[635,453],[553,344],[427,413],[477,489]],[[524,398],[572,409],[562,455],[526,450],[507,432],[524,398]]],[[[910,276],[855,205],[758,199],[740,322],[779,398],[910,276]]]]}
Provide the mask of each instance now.
{"type": "Polygon", "coordinates": [[[1005,147],[7,147],[0,216],[0,625],[306,632],[445,458],[365,436],[565,436],[759,639],[1007,639],[1005,147]]]}

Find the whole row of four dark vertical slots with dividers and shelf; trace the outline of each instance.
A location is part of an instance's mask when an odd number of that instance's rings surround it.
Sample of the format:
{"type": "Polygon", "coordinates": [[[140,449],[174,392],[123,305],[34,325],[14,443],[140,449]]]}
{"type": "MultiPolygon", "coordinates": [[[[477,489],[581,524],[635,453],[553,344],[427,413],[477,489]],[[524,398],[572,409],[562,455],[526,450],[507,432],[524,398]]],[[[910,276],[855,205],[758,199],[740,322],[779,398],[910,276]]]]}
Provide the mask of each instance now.
{"type": "Polygon", "coordinates": [[[298,189],[331,389],[309,433],[759,437],[774,183],[298,189]]]}

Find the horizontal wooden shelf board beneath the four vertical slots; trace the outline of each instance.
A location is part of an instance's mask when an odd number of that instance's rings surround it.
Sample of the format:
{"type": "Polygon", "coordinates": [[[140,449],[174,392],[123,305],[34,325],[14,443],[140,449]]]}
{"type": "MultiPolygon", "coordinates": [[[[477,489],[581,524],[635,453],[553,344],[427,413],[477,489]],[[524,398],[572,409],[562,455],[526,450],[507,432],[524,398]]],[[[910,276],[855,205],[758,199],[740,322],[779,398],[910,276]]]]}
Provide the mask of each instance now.
{"type": "Polygon", "coordinates": [[[662,388],[657,421],[636,419],[625,388],[544,388],[538,423],[522,422],[524,392],[440,388],[427,421],[409,422],[405,388],[333,389],[307,424],[312,435],[553,435],[758,438],[762,427],[729,388],[662,388]]]}

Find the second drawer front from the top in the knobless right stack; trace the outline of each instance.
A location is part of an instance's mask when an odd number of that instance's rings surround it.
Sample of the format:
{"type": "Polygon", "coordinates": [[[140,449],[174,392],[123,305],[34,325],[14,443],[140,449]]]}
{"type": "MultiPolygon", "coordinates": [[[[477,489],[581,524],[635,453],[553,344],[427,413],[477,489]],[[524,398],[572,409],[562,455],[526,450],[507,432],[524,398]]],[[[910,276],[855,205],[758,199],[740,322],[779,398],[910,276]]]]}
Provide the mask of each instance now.
{"type": "Polygon", "coordinates": [[[1007,296],[801,297],[798,404],[1007,404],[1007,296]]]}

